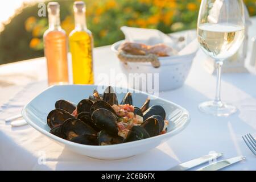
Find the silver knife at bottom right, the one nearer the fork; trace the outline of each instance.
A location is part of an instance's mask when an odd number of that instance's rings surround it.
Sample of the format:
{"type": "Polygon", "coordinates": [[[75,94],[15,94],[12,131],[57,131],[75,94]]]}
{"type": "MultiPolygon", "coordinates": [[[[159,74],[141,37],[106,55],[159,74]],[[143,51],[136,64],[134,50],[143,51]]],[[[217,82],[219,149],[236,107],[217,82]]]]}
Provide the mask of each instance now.
{"type": "Polygon", "coordinates": [[[228,167],[231,164],[240,162],[241,160],[245,159],[245,156],[237,156],[234,158],[226,159],[226,160],[220,160],[216,163],[210,164],[206,167],[197,169],[197,171],[217,171],[219,169],[222,169],[224,167],[228,167]]]}

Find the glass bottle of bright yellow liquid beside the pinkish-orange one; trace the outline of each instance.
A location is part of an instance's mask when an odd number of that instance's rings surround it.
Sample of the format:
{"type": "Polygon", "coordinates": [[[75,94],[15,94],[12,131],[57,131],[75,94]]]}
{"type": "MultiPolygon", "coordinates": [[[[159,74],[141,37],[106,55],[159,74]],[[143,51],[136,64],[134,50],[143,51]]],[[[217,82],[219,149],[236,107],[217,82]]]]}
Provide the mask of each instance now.
{"type": "Polygon", "coordinates": [[[75,29],[69,34],[73,84],[93,84],[93,37],[86,27],[85,4],[74,2],[75,29]]]}

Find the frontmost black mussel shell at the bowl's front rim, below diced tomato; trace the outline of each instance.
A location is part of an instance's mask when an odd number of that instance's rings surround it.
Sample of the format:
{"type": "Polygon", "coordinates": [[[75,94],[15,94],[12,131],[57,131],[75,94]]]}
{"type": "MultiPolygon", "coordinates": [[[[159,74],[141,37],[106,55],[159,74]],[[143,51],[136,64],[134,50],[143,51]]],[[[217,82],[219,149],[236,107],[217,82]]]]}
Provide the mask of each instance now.
{"type": "Polygon", "coordinates": [[[127,135],[125,142],[132,142],[135,140],[141,140],[145,138],[150,138],[150,135],[147,133],[145,129],[141,126],[133,126],[127,135]]]}

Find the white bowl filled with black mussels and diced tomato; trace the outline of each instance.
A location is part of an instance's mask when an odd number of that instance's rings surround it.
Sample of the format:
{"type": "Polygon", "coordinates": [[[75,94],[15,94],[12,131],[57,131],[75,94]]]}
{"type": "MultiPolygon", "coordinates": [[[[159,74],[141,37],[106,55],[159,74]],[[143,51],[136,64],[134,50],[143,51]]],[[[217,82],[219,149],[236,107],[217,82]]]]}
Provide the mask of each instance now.
{"type": "Polygon", "coordinates": [[[97,159],[142,154],[187,126],[187,110],[133,89],[58,85],[26,106],[29,125],[69,150],[97,159]]]}

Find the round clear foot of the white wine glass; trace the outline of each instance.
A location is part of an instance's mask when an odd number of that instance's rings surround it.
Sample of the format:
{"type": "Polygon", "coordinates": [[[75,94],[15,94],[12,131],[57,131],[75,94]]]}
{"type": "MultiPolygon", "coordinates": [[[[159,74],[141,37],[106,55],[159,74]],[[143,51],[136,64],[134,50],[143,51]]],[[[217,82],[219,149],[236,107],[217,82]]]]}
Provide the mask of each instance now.
{"type": "Polygon", "coordinates": [[[236,113],[237,108],[233,105],[225,104],[223,102],[208,101],[199,105],[199,110],[206,114],[216,116],[228,116],[236,113]]]}

